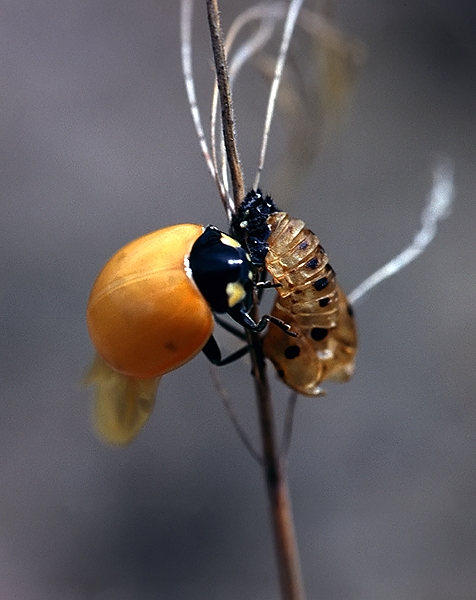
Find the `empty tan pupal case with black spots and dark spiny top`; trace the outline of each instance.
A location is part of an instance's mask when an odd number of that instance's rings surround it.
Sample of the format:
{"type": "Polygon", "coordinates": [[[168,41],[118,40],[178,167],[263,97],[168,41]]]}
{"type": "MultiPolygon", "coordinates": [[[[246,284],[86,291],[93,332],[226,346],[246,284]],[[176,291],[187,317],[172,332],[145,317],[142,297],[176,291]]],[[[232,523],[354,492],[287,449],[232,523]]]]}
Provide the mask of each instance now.
{"type": "Polygon", "coordinates": [[[303,221],[279,211],[269,196],[252,190],[232,220],[255,268],[272,278],[271,311],[296,334],[270,326],[263,352],[291,389],[320,396],[322,381],[347,381],[354,372],[357,332],[352,307],[317,236],[303,221]]]}

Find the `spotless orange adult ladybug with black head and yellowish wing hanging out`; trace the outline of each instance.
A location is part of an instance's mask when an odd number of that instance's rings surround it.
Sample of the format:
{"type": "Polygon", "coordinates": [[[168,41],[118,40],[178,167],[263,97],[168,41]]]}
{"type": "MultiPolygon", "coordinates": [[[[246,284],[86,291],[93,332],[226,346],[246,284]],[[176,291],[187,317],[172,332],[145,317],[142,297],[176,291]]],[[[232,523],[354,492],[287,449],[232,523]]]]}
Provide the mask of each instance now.
{"type": "MultiPolygon", "coordinates": [[[[222,360],[213,313],[262,331],[253,302],[255,268],[241,244],[212,226],[172,225],[116,252],[89,297],[87,325],[98,357],[87,376],[96,386],[95,424],[106,441],[130,442],[152,411],[160,377],[200,351],[222,360]]],[[[284,330],[285,324],[278,323],[284,330]]]]}

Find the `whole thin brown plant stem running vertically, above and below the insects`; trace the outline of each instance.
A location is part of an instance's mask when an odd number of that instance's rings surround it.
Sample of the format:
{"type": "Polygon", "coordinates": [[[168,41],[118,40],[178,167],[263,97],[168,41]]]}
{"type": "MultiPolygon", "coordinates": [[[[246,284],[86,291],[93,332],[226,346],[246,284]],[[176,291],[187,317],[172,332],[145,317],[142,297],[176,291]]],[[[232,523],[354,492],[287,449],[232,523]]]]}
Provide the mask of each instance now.
{"type": "MultiPolygon", "coordinates": [[[[220,94],[223,137],[233,185],[233,200],[235,206],[238,206],[244,198],[244,180],[235,142],[231,89],[217,0],[207,0],[207,12],[220,94]]],[[[263,470],[271,505],[271,520],[281,584],[281,597],[282,600],[304,600],[291,503],[284,469],[276,446],[271,392],[266,375],[262,342],[257,334],[248,332],[247,337],[250,345],[252,372],[258,403],[263,447],[263,470]]]]}

